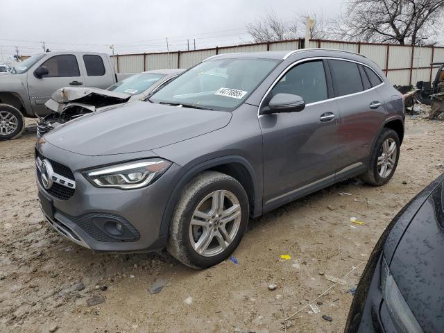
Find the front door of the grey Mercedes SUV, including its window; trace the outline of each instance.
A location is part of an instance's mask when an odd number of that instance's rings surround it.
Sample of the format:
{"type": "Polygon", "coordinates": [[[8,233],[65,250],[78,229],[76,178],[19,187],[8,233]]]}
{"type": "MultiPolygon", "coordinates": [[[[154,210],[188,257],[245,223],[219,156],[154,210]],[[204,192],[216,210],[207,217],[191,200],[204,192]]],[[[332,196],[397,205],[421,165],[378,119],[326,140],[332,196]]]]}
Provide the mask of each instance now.
{"type": "Polygon", "coordinates": [[[259,116],[264,151],[264,209],[272,209],[334,181],[339,111],[329,100],[323,60],[292,67],[264,99],[295,94],[301,112],[259,116]]]}

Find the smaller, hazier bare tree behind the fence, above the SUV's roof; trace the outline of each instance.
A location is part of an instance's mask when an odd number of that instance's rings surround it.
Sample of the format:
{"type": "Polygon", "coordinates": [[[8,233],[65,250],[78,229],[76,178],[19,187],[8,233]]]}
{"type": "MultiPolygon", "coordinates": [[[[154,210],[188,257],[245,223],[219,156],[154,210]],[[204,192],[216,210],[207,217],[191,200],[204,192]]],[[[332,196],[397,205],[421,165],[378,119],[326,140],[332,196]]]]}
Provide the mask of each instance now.
{"type": "Polygon", "coordinates": [[[266,12],[264,17],[248,24],[247,29],[257,43],[291,40],[298,37],[297,26],[291,22],[284,22],[273,11],[266,12]]]}

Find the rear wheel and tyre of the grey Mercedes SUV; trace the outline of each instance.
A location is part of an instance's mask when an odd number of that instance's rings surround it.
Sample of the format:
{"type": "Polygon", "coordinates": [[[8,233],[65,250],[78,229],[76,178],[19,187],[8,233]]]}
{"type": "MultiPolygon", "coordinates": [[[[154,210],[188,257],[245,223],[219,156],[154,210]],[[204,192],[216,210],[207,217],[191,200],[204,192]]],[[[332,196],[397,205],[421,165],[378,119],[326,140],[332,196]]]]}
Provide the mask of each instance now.
{"type": "Polygon", "coordinates": [[[390,128],[384,128],[373,148],[366,173],[359,178],[369,185],[384,185],[395,173],[400,157],[400,139],[390,128]]]}

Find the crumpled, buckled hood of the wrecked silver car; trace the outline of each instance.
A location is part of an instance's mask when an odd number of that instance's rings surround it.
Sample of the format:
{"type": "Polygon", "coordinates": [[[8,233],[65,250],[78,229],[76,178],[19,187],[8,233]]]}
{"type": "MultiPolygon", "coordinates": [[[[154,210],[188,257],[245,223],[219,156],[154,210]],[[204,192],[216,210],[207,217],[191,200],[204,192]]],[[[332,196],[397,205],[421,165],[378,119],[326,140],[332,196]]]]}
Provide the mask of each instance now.
{"type": "Polygon", "coordinates": [[[99,88],[63,87],[53,92],[45,106],[58,113],[71,105],[80,105],[94,112],[96,108],[126,103],[130,97],[128,94],[99,88]]]}

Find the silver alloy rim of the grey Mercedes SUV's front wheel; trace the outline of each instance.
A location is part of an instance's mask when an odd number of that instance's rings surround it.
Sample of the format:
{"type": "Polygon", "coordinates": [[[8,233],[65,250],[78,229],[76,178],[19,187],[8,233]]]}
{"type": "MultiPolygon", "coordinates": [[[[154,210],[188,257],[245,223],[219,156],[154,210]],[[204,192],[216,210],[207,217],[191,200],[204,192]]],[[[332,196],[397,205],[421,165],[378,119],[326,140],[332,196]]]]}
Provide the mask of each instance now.
{"type": "Polygon", "coordinates": [[[222,253],[234,240],[241,224],[238,198],[223,189],[200,201],[189,223],[192,248],[203,257],[222,253]]]}

